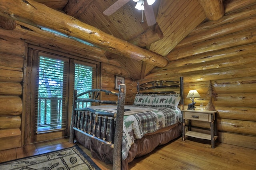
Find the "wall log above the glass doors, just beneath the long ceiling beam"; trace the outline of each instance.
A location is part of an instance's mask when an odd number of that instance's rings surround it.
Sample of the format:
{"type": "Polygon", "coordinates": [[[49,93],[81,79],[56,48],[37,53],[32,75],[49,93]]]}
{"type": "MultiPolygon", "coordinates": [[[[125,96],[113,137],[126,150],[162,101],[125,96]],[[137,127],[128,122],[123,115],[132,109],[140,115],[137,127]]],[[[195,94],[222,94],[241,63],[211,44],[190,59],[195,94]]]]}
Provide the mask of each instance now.
{"type": "MultiPolygon", "coordinates": [[[[0,32],[1,34],[1,32],[0,32]]],[[[17,27],[14,31],[5,31],[2,34],[16,39],[24,39],[26,42],[44,47],[46,49],[54,49],[62,53],[70,53],[79,57],[87,57],[91,60],[102,61],[108,63],[108,59],[104,55],[104,50],[91,47],[72,40],[70,38],[61,37],[50,32],[46,32],[35,26],[17,21],[17,27]],[[49,41],[49,37],[50,40],[49,41]]],[[[44,49],[45,50],[45,49],[44,49]]]]}

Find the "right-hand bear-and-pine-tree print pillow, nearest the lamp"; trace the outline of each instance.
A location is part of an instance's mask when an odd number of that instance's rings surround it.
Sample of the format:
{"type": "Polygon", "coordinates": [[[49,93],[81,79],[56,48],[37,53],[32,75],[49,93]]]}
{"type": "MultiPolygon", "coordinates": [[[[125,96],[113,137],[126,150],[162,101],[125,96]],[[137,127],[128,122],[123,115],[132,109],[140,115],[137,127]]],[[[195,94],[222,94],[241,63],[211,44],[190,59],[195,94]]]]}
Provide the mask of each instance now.
{"type": "Polygon", "coordinates": [[[180,103],[180,94],[158,95],[155,96],[152,102],[154,107],[169,107],[176,109],[180,103]]]}

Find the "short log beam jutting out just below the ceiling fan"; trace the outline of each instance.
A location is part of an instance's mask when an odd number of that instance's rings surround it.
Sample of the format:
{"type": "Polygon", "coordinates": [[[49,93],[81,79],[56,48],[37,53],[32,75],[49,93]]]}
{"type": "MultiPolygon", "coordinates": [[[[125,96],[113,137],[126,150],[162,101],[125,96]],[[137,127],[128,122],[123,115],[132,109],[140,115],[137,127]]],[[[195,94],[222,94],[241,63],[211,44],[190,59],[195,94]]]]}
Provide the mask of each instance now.
{"type": "Polygon", "coordinates": [[[164,34],[159,25],[156,23],[153,27],[150,27],[148,30],[129,40],[128,42],[139,47],[146,47],[147,45],[157,42],[162,38],[164,38],[164,34]]]}

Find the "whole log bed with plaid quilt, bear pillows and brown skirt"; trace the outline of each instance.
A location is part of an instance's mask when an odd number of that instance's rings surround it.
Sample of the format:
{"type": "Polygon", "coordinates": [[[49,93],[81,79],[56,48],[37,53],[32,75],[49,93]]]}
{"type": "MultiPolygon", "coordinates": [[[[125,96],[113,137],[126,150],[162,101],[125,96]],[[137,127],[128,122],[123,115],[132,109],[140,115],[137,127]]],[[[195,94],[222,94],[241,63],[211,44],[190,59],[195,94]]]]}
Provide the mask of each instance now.
{"type": "Polygon", "coordinates": [[[124,105],[125,94],[126,85],[120,85],[119,93],[92,89],[77,94],[75,90],[70,126],[70,142],[76,140],[92,157],[122,170],[134,158],[181,136],[183,77],[137,83],[132,105],[124,105]],[[100,100],[103,95],[116,96],[116,100],[100,100]]]}

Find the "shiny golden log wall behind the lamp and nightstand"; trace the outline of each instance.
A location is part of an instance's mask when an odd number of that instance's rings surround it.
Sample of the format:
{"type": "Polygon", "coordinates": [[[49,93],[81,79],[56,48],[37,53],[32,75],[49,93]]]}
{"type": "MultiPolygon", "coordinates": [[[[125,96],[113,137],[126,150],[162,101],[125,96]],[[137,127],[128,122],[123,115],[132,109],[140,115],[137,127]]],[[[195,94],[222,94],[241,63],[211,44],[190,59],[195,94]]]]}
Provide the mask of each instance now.
{"type": "MultiPolygon", "coordinates": [[[[252,5],[201,24],[168,54],[166,68],[154,69],[140,83],[183,76],[184,96],[196,89],[203,99],[195,100],[196,106],[202,101],[206,106],[212,80],[218,93],[214,101],[218,141],[256,149],[255,21],[256,5],[252,5]]],[[[188,103],[190,99],[185,99],[185,106],[188,103]]],[[[208,123],[199,121],[192,121],[192,126],[198,131],[209,129],[208,123]]]]}

